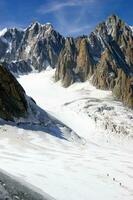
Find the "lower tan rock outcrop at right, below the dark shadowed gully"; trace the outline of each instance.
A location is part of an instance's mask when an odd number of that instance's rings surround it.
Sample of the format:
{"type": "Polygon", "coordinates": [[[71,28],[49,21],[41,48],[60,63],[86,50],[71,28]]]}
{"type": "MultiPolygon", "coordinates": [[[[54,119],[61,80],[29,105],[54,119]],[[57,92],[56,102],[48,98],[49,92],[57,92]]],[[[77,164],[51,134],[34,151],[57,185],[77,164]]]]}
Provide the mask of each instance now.
{"type": "Polygon", "coordinates": [[[126,62],[119,62],[119,57],[108,49],[96,66],[92,82],[97,88],[112,90],[114,96],[133,108],[133,74],[126,62]]]}

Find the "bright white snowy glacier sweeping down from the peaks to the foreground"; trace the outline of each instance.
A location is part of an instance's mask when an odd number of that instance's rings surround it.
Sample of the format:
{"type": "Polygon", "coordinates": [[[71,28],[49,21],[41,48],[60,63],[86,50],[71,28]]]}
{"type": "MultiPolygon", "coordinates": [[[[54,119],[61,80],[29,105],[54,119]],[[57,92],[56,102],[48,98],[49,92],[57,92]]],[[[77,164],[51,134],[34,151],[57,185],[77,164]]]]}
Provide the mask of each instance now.
{"type": "Polygon", "coordinates": [[[133,112],[89,82],[62,88],[53,74],[50,70],[18,80],[79,140],[2,125],[0,168],[57,200],[132,200],[133,112]]]}

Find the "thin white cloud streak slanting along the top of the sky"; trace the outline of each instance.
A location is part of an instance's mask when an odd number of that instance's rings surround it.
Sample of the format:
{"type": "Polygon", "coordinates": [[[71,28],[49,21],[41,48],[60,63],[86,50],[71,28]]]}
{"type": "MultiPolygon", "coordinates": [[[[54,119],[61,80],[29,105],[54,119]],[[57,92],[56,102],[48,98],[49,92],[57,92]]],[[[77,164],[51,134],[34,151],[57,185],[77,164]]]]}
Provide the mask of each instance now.
{"type": "Polygon", "coordinates": [[[88,3],[93,3],[95,0],[67,0],[67,1],[54,1],[45,5],[41,5],[37,12],[40,14],[48,14],[52,12],[56,12],[68,7],[80,7],[83,5],[87,5],[88,3]]]}

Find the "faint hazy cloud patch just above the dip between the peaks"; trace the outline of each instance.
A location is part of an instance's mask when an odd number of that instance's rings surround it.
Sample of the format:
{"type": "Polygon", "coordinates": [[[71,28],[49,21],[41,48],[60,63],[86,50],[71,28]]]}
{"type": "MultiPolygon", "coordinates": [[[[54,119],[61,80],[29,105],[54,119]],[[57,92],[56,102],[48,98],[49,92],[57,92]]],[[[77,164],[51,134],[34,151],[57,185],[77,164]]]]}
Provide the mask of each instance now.
{"type": "Polygon", "coordinates": [[[90,14],[87,14],[88,7],[80,7],[70,12],[70,9],[60,10],[54,13],[56,29],[64,36],[78,36],[89,34],[94,28],[93,21],[90,20],[90,14]],[[87,17],[86,17],[87,16],[87,17]],[[89,18],[89,19],[88,19],[89,18]]]}

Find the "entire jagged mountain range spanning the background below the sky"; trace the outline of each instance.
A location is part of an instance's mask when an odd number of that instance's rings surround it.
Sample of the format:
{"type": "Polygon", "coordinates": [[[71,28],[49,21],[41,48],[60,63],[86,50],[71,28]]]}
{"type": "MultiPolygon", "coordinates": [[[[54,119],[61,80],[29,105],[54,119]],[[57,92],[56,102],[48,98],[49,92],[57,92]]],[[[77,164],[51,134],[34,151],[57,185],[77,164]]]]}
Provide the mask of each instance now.
{"type": "Polygon", "coordinates": [[[50,23],[0,32],[0,61],[15,75],[55,68],[55,80],[68,87],[86,81],[109,89],[133,108],[132,28],[112,15],[88,36],[64,38],[50,23]]]}

